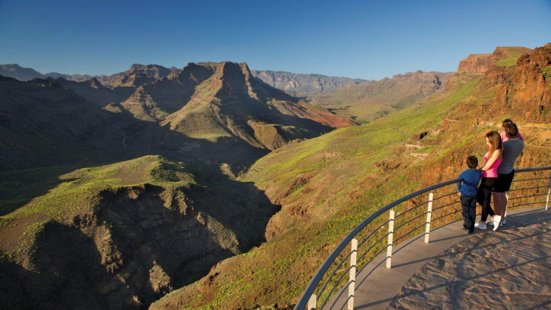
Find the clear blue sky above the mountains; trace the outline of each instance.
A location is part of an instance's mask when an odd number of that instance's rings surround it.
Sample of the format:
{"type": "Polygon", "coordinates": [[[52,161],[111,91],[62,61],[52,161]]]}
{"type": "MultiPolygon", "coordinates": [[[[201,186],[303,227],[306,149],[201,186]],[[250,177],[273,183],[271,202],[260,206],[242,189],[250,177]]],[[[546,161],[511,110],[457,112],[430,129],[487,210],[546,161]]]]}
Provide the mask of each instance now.
{"type": "Polygon", "coordinates": [[[550,41],[551,0],[0,0],[0,64],[42,73],[245,61],[378,80],[550,41]]]}

